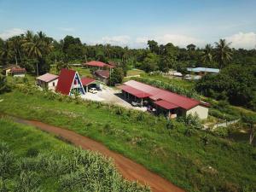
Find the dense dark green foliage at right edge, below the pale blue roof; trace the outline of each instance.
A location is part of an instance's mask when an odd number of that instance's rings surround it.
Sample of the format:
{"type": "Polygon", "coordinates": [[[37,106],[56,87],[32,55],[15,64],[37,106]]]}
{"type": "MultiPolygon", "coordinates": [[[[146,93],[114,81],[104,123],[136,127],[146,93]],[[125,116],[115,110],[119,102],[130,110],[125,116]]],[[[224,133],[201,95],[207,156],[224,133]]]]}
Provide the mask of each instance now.
{"type": "Polygon", "coordinates": [[[205,96],[256,110],[256,66],[230,65],[218,75],[206,75],[196,84],[205,96]]]}

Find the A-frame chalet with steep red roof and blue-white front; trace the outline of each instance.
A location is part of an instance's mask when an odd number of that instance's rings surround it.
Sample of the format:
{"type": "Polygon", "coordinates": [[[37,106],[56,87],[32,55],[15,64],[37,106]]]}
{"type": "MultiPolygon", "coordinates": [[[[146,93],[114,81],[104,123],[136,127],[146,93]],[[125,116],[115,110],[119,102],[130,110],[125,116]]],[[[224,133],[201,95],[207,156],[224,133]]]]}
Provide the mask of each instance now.
{"type": "Polygon", "coordinates": [[[71,69],[62,68],[56,92],[67,96],[72,96],[74,92],[84,95],[85,91],[81,79],[79,78],[79,73],[71,69]]]}

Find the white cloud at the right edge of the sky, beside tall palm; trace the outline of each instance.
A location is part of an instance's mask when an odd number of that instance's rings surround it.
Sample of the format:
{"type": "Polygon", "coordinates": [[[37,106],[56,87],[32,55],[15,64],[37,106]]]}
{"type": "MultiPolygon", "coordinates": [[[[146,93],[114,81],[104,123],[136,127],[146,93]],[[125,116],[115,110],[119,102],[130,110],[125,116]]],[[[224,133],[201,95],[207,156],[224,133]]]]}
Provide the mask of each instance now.
{"type": "Polygon", "coordinates": [[[230,47],[253,49],[256,48],[256,33],[255,32],[239,32],[230,37],[226,37],[228,42],[231,42],[230,47]]]}

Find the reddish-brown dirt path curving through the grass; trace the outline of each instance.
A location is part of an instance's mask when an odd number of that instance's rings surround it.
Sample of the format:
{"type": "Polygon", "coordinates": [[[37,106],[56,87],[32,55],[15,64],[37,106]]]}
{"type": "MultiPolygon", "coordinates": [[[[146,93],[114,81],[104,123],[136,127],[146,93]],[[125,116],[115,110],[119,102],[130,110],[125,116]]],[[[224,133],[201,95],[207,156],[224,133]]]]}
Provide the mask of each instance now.
{"type": "Polygon", "coordinates": [[[42,122],[16,119],[15,121],[25,125],[32,125],[38,127],[40,130],[53,133],[57,136],[61,136],[76,146],[80,146],[84,149],[90,149],[92,151],[97,151],[104,154],[114,160],[116,167],[119,172],[128,180],[138,181],[142,184],[148,184],[154,192],[183,192],[183,189],[178,188],[172,183],[168,182],[165,178],[158,176],[157,174],[148,171],[143,166],[137,164],[136,162],[126,158],[121,154],[117,154],[108,148],[106,148],[102,143],[97,143],[96,141],[79,135],[73,131],[62,129],[60,127],[47,125],[42,122]]]}

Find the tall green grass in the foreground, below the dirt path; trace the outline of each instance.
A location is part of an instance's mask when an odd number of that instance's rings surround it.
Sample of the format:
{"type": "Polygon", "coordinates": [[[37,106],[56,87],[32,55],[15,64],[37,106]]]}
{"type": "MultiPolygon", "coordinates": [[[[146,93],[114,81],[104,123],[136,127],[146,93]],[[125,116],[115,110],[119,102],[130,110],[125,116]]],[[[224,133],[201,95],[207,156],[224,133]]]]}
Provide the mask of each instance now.
{"type": "Polygon", "coordinates": [[[99,154],[0,117],[0,191],[149,192],[99,154]],[[4,184],[3,184],[4,183],[4,184]]]}

